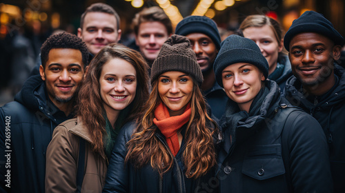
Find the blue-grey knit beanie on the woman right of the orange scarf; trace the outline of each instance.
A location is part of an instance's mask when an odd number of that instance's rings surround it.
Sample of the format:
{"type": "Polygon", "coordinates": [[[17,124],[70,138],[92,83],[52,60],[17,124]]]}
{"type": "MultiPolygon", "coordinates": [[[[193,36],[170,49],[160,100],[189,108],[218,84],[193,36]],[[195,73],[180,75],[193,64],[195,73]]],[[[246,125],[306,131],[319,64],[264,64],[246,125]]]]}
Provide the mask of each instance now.
{"type": "Polygon", "coordinates": [[[262,55],[260,48],[251,39],[230,35],[221,42],[221,48],[213,65],[217,83],[221,87],[224,87],[221,81],[221,72],[228,65],[234,63],[250,63],[255,65],[262,71],[266,79],[268,77],[268,62],[262,55]]]}

